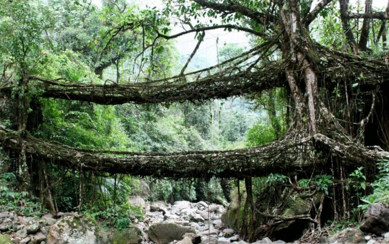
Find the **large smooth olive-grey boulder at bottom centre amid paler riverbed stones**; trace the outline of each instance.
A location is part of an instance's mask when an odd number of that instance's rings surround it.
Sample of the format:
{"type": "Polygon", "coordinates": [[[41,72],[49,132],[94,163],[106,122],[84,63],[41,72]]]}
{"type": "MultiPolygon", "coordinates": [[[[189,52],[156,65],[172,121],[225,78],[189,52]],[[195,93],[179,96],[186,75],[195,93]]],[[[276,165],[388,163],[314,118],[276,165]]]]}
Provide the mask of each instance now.
{"type": "Polygon", "coordinates": [[[149,238],[158,244],[167,244],[174,240],[180,240],[185,233],[195,233],[195,229],[175,223],[156,223],[148,229],[149,238]]]}

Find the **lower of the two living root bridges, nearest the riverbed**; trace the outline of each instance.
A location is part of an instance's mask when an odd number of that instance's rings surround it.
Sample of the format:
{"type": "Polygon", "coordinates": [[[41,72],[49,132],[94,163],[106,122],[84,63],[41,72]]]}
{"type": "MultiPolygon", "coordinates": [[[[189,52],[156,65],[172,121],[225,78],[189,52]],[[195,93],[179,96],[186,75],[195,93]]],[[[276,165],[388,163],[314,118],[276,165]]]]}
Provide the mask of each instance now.
{"type": "MultiPolygon", "coordinates": [[[[26,133],[26,153],[37,160],[53,162],[74,169],[168,178],[243,178],[267,176],[270,173],[310,172],[325,163],[313,158],[315,146],[327,147],[333,153],[358,164],[375,162],[389,155],[357,144],[343,145],[322,134],[284,139],[248,149],[230,151],[192,151],[177,153],[136,153],[77,149],[36,139],[26,133]],[[120,156],[119,156],[120,155],[120,156]]],[[[0,127],[0,145],[19,147],[18,134],[0,127]]]]}

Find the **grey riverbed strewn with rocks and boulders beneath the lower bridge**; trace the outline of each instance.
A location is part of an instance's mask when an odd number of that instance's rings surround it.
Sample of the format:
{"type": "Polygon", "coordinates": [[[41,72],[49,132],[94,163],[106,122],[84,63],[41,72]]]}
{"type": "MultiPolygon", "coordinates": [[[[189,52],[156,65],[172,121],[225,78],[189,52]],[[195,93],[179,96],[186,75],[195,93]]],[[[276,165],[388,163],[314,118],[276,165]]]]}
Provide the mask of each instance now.
{"type": "MultiPolygon", "coordinates": [[[[133,219],[132,227],[125,231],[107,230],[92,218],[80,217],[78,214],[55,219],[51,214],[33,218],[19,216],[13,211],[3,211],[0,212],[0,244],[246,244],[239,239],[235,230],[222,223],[221,216],[225,208],[221,205],[207,204],[203,201],[150,204],[140,197],[133,197],[130,202],[140,205],[145,214],[142,221],[133,219]]],[[[373,217],[385,215],[386,212],[382,211],[388,210],[387,206],[376,207],[376,210],[370,211],[373,217]]],[[[380,224],[379,221],[378,226],[385,227],[385,223],[380,224]]],[[[371,224],[371,221],[368,224],[371,224]]],[[[383,229],[379,231],[382,232],[383,229]]],[[[359,229],[346,228],[319,241],[389,244],[389,232],[365,235],[359,229]]],[[[285,242],[271,241],[269,238],[255,242],[261,243],[285,242]]]]}

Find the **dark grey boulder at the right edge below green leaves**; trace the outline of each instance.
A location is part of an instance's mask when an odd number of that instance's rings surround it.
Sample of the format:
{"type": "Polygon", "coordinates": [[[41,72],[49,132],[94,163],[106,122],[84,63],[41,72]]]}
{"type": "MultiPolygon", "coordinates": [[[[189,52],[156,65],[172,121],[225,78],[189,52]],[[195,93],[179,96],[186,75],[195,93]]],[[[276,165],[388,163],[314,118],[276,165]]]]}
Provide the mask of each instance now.
{"type": "Polygon", "coordinates": [[[360,229],[365,233],[382,235],[389,231],[389,206],[373,203],[366,211],[360,229]]]}

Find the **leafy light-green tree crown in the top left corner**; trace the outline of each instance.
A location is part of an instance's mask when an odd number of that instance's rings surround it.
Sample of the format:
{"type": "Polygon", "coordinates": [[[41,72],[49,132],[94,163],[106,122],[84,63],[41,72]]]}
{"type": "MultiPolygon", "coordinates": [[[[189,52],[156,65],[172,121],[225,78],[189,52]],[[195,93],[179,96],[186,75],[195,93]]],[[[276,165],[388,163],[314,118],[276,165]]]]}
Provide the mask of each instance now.
{"type": "Polygon", "coordinates": [[[0,16],[1,65],[15,65],[12,69],[19,76],[39,73],[47,62],[47,49],[51,47],[42,35],[52,24],[47,6],[23,0],[1,0],[0,16]]]}

